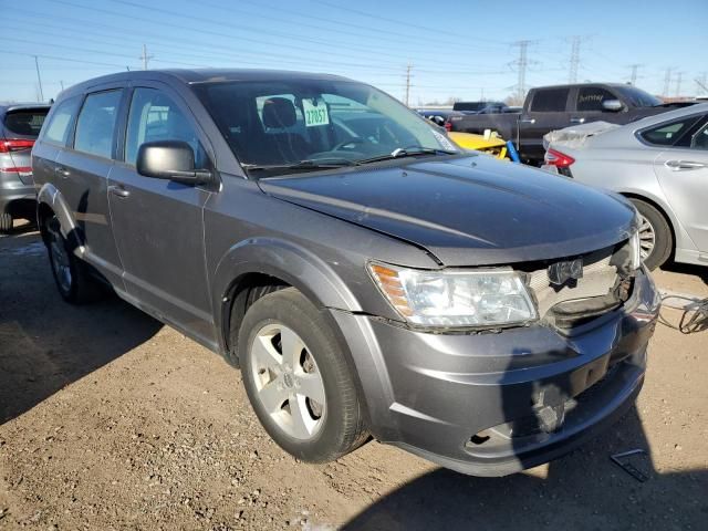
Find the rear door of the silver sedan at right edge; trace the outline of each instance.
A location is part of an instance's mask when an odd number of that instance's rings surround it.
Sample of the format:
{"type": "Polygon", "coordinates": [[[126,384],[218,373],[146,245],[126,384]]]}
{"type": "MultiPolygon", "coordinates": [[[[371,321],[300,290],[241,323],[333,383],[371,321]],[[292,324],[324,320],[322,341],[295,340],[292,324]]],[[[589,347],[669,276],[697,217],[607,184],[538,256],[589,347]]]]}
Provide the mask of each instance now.
{"type": "MultiPolygon", "coordinates": [[[[691,240],[700,252],[708,252],[708,118],[700,117],[680,133],[674,122],[663,126],[675,129],[678,138],[673,146],[659,154],[654,164],[656,176],[671,209],[678,216],[691,240]]],[[[679,122],[679,121],[677,121],[679,122]]],[[[659,132],[660,133],[660,132],[659,132]]],[[[657,132],[645,133],[645,138],[654,138],[657,132]]]]}

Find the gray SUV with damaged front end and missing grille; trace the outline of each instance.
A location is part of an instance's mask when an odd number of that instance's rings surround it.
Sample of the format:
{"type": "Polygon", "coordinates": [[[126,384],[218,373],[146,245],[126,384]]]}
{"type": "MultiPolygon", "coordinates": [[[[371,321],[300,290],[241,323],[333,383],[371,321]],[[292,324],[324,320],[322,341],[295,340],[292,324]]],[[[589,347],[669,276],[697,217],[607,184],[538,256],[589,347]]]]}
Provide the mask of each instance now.
{"type": "Polygon", "coordinates": [[[240,366],[302,460],[373,436],[511,473],[642,386],[659,301],[632,205],[461,152],[372,86],[100,77],[59,96],[33,169],[62,296],[107,284],[240,366]]]}

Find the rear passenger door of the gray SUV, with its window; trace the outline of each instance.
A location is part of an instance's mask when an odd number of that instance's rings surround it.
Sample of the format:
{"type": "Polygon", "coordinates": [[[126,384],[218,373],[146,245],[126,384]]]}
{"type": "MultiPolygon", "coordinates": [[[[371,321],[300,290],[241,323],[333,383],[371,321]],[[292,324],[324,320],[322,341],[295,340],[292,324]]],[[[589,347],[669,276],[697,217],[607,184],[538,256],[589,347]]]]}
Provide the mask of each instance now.
{"type": "Polygon", "coordinates": [[[123,289],[123,269],[110,222],[107,181],[124,93],[121,85],[105,85],[85,95],[73,140],[59,150],[54,164],[54,183],[72,210],[85,260],[117,289],[123,289]]]}

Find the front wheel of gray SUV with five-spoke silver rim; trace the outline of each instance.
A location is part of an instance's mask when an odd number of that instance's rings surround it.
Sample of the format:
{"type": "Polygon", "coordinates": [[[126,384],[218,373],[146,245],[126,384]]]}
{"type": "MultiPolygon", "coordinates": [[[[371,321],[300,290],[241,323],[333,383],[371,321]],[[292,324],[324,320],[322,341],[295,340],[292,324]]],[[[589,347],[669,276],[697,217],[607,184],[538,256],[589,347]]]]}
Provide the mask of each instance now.
{"type": "Polygon", "coordinates": [[[361,396],[344,353],[324,315],[298,290],[270,293],[248,309],[238,352],[253,410],[287,452],[303,461],[326,462],[366,440],[361,396]],[[291,347],[284,348],[288,344],[291,347]],[[287,351],[295,354],[288,355],[287,351]],[[268,358],[267,369],[263,356],[268,358]],[[294,361],[290,367],[288,360],[294,361]],[[323,389],[309,391],[316,387],[313,382],[317,377],[323,389]],[[320,396],[324,397],[322,404],[317,402],[320,396]],[[304,420],[299,423],[296,418],[304,420]]]}

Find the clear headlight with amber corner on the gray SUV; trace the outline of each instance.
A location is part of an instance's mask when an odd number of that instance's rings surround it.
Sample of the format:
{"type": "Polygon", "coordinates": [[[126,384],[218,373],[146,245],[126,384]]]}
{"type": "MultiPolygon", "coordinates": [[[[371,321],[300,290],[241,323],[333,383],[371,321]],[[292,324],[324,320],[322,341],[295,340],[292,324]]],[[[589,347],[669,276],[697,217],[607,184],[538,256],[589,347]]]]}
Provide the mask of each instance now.
{"type": "Polygon", "coordinates": [[[521,278],[510,269],[419,271],[379,263],[368,270],[406,319],[424,326],[491,326],[537,317],[521,278]]]}

